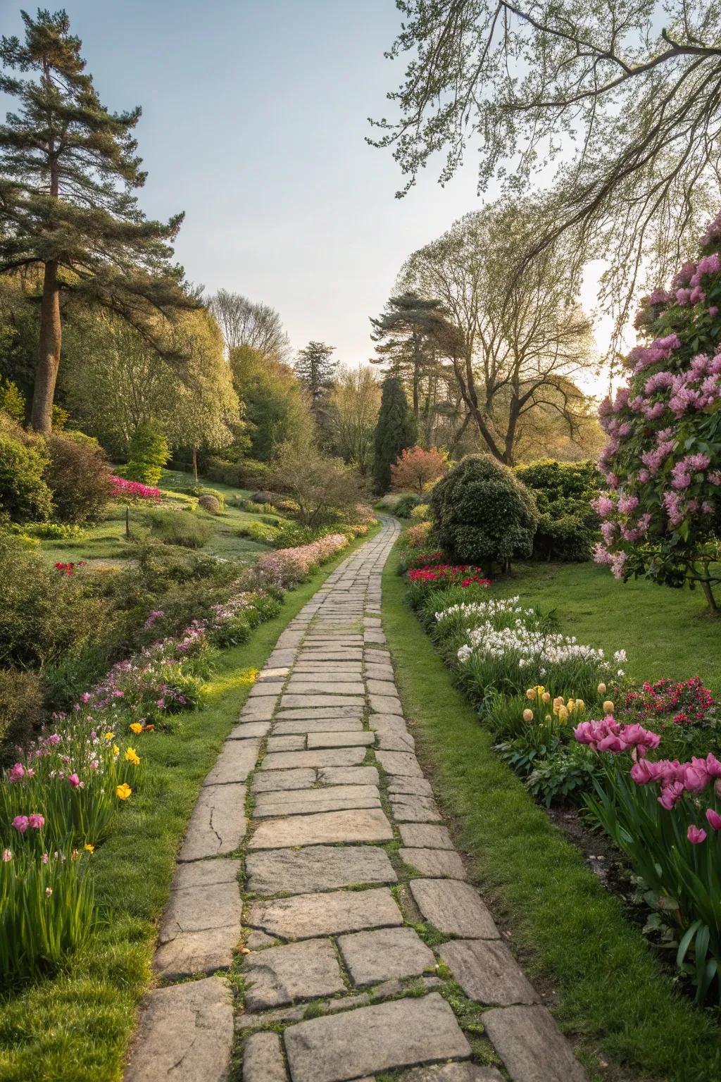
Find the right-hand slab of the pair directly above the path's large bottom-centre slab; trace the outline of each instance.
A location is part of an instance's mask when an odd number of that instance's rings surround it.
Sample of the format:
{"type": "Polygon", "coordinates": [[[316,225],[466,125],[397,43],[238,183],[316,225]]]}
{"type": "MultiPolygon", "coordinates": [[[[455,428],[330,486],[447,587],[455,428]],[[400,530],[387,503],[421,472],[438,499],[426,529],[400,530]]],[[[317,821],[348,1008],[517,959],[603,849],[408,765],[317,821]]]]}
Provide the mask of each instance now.
{"type": "Polygon", "coordinates": [[[436,968],[433,952],[414,928],[379,928],[339,936],[338,949],[351,981],[359,988],[436,968]]]}

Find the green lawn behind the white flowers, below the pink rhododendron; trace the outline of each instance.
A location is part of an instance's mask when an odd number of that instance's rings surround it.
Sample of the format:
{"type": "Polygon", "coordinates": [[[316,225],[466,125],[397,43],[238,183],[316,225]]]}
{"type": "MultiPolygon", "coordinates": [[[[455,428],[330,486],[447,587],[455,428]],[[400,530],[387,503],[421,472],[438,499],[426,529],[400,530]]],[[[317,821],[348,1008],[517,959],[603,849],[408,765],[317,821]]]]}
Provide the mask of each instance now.
{"type": "Polygon", "coordinates": [[[721,695],[721,619],[707,615],[700,590],[623,583],[591,563],[524,564],[495,581],[493,594],[555,609],[563,634],[609,656],[626,650],[623,668],[633,681],[700,676],[721,695]]]}

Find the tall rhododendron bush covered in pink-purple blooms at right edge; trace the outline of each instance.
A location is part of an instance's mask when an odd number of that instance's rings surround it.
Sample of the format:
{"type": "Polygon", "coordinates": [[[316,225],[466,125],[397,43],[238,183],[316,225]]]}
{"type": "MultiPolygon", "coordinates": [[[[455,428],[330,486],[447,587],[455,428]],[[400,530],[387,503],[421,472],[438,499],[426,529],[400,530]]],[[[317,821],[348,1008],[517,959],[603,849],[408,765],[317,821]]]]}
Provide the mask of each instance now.
{"type": "Polygon", "coordinates": [[[639,313],[649,343],[627,358],[628,382],[601,406],[610,437],[607,491],[596,504],[596,558],[620,579],[700,584],[717,610],[721,582],[721,215],[670,290],[639,313]]]}

